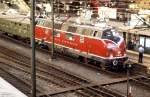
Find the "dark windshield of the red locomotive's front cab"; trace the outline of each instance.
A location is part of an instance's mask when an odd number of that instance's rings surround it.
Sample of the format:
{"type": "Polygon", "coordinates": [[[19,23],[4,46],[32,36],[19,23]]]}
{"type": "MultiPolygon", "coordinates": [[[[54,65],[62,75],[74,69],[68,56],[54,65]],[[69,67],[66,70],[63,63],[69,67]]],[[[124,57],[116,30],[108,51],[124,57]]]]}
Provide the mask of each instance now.
{"type": "Polygon", "coordinates": [[[111,29],[103,31],[102,39],[109,39],[114,41],[115,43],[118,43],[120,41],[120,37],[111,29]]]}

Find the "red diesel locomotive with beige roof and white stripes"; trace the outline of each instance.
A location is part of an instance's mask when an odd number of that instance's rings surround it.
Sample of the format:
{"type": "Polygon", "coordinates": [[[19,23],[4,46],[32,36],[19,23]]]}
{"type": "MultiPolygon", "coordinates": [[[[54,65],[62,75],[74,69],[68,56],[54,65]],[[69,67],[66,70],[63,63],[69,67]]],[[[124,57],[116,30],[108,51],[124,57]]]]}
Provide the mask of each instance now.
{"type": "MultiPolygon", "coordinates": [[[[123,37],[111,27],[76,23],[74,19],[54,21],[54,43],[59,52],[65,52],[92,61],[105,68],[124,66],[126,45],[123,37]]],[[[52,42],[51,19],[38,18],[36,40],[49,46],[52,42]]]]}

